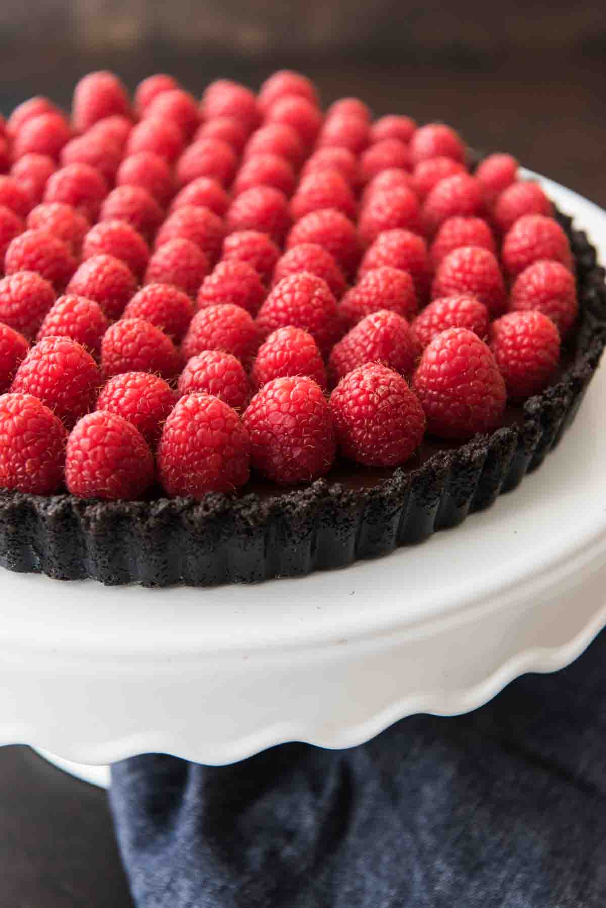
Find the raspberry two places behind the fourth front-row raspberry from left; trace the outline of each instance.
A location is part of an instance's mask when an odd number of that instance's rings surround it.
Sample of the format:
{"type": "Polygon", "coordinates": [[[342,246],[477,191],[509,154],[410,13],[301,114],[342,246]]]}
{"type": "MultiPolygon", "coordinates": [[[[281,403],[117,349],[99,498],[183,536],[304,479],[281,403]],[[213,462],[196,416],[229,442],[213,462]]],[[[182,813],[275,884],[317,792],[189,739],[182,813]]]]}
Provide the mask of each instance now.
{"type": "Polygon", "coordinates": [[[324,355],[340,333],[337,304],[326,281],[301,271],[279,281],[257,316],[264,336],[293,325],[309,331],[324,355]]]}

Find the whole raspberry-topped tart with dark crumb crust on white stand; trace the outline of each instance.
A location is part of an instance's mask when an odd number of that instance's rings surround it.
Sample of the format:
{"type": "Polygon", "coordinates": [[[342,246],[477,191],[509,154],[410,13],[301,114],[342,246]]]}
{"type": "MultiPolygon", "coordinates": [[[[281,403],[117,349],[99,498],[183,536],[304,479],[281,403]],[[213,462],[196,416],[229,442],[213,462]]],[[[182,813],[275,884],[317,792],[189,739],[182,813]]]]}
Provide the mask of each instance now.
{"type": "Polygon", "coordinates": [[[202,586],[421,542],[541,466],[601,359],[585,234],[442,123],[93,73],[6,143],[4,568],[202,586]]]}

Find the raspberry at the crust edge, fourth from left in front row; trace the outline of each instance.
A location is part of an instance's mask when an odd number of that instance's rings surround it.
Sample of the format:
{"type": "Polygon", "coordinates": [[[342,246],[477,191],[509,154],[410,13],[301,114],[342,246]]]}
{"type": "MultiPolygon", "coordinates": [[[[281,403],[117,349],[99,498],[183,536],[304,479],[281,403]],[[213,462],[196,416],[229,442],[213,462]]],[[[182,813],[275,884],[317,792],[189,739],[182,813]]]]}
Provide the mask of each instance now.
{"type": "Polygon", "coordinates": [[[268,381],[249,403],[243,427],[251,438],[253,467],[273,482],[312,482],[333,466],[333,418],[323,390],[312,379],[268,381]]]}

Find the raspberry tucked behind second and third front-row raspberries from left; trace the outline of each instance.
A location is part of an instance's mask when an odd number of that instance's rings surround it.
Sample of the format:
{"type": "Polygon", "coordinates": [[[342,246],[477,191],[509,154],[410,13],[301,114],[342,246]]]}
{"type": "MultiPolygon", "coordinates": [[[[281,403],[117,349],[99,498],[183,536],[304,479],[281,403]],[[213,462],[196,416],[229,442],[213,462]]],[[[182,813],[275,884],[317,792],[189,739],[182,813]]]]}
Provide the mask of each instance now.
{"type": "Polygon", "coordinates": [[[150,372],[122,372],[102,388],[96,409],[126,419],[154,449],[175,403],[174,390],[164,379],[150,372]]]}

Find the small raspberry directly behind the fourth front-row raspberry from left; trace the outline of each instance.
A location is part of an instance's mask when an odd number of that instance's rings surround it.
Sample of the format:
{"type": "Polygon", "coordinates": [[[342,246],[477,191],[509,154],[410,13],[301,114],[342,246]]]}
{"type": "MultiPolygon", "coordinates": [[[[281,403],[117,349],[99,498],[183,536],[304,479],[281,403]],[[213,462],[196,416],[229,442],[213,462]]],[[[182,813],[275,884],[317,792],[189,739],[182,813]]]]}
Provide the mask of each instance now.
{"type": "Polygon", "coordinates": [[[285,376],[304,375],[326,390],[322,354],[311,334],[303,328],[278,328],[259,348],[251,370],[253,388],[285,376]]]}

